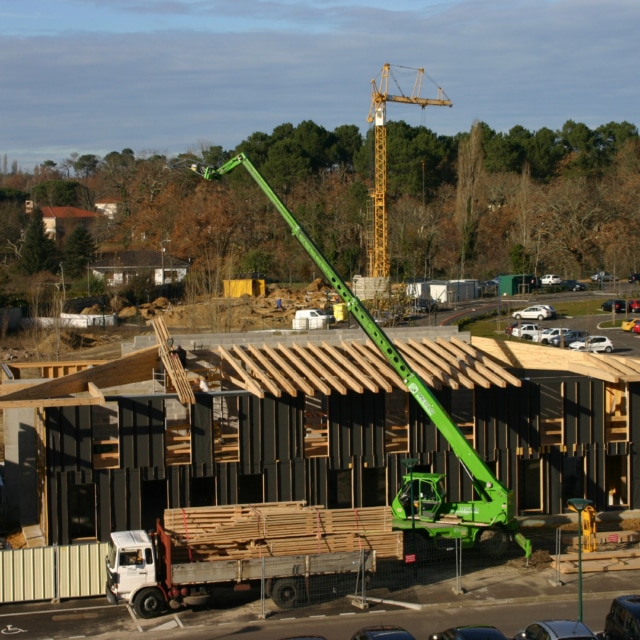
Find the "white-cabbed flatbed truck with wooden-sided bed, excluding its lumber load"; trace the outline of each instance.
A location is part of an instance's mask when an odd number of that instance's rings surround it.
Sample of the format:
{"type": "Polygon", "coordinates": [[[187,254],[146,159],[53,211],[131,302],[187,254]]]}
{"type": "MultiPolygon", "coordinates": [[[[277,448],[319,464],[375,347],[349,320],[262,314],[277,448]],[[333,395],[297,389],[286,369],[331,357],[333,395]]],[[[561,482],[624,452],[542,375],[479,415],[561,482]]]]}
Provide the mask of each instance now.
{"type": "Polygon", "coordinates": [[[375,550],[268,556],[264,558],[176,561],[185,545],[160,522],[154,533],[115,531],[106,557],[107,599],[129,604],[140,618],[154,618],[167,609],[201,606],[212,601],[214,589],[246,590],[262,583],[266,595],[281,609],[300,604],[309,582],[329,574],[352,574],[368,580],[376,571],[375,550]]]}

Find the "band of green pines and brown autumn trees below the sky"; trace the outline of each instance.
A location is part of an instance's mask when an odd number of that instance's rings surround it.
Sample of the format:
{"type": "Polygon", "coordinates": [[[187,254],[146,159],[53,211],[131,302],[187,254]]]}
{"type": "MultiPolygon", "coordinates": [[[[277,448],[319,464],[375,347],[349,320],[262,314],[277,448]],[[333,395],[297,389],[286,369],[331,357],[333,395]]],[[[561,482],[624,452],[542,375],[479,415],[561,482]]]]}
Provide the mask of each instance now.
{"type": "MultiPolygon", "coordinates": [[[[87,263],[102,253],[160,251],[163,241],[172,255],[191,260],[191,284],[202,292],[217,294],[222,279],[244,273],[282,283],[319,275],[245,172],[212,184],[186,169],[190,160],[219,165],[240,151],[345,278],[365,274],[373,135],[304,121],[255,132],[233,150],[201,145],[177,157],[131,149],[72,154],[32,172],[5,157],[0,286],[14,294],[20,276],[55,278],[61,269],[81,282],[87,263]],[[25,213],[27,200],[35,214],[25,213]],[[117,203],[117,213],[92,236],[78,227],[54,242],[44,233],[39,208],[93,210],[99,202],[117,203]]],[[[639,188],[638,129],[628,122],[590,129],[569,120],[557,131],[517,126],[508,133],[478,122],[455,136],[389,122],[392,277],[640,271],[639,188]]]]}

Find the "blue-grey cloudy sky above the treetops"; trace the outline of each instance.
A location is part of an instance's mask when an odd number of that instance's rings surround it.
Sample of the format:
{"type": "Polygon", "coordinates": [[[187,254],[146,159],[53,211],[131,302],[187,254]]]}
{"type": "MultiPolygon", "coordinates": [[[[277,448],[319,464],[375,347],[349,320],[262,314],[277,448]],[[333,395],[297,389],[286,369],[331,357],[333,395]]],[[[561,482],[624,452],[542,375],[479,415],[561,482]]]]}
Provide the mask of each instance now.
{"type": "Polygon", "coordinates": [[[639,125],[638,33],[638,0],[0,0],[0,159],[366,133],[385,63],[390,94],[423,68],[421,97],[452,101],[387,105],[437,135],[639,125]]]}

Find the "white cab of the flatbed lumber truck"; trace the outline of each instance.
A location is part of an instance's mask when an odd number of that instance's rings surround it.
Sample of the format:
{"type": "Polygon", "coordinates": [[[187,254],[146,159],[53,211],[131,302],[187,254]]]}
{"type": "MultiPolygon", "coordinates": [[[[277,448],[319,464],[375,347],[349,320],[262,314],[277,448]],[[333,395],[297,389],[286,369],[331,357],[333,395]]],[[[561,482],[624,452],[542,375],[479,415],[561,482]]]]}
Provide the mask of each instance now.
{"type": "Polygon", "coordinates": [[[144,587],[155,587],[156,561],[146,531],[116,531],[109,540],[107,598],[113,604],[131,602],[144,587]]]}

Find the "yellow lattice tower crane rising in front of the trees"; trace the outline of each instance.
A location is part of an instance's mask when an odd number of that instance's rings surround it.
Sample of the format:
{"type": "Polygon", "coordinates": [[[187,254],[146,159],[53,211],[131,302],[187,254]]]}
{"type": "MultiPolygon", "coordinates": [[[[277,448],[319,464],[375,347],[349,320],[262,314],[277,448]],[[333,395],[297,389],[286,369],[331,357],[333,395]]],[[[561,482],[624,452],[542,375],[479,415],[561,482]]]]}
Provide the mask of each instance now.
{"type": "MultiPolygon", "coordinates": [[[[411,69],[411,67],[403,67],[411,69]]],[[[375,172],[374,188],[371,193],[373,200],[373,239],[369,246],[369,276],[373,278],[388,278],[391,273],[389,260],[389,228],[387,220],[387,127],[386,110],[387,102],[402,102],[404,104],[417,104],[423,109],[427,106],[451,107],[453,103],[444,91],[438,87],[437,98],[421,98],[422,80],[424,69],[412,69],[416,71],[413,83],[413,91],[410,96],[404,94],[398,84],[391,65],[387,62],[378,76],[371,80],[371,108],[367,122],[373,122],[375,127],[375,172]],[[389,94],[389,77],[398,87],[399,95],[389,94]]]]}

